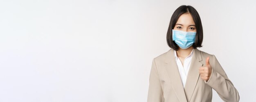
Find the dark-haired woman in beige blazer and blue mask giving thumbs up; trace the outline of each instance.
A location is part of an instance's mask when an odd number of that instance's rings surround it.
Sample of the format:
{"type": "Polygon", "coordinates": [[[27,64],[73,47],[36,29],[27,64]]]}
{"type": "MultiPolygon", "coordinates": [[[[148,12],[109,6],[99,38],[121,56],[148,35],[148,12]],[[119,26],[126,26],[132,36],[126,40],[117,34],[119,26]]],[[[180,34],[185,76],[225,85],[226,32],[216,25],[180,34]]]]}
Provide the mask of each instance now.
{"type": "Polygon", "coordinates": [[[203,29],[198,12],[180,6],[167,32],[168,52],[153,59],[148,102],[211,102],[212,89],[225,102],[238,102],[238,91],[214,55],[202,52],[203,29]]]}

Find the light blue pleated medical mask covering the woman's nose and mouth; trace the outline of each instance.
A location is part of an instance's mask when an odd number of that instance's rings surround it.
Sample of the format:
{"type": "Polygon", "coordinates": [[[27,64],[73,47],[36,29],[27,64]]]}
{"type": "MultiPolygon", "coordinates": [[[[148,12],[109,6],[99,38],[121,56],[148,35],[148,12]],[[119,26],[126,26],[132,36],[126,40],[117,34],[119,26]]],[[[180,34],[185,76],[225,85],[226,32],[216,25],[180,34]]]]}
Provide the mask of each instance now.
{"type": "Polygon", "coordinates": [[[182,49],[187,49],[195,42],[196,32],[173,30],[173,41],[182,49]]]}

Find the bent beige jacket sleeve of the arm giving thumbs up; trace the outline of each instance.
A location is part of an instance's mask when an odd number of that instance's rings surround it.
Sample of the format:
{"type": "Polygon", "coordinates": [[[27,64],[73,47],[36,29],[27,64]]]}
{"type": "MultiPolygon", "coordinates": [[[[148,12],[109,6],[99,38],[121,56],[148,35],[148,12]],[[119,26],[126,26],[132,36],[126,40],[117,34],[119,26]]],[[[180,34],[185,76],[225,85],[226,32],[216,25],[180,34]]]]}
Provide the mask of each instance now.
{"type": "MultiPolygon", "coordinates": [[[[211,60],[211,59],[210,59],[211,60]]],[[[207,85],[212,87],[225,102],[238,102],[240,96],[233,83],[227,77],[227,74],[221,67],[220,63],[213,55],[212,72],[207,85]]]]}

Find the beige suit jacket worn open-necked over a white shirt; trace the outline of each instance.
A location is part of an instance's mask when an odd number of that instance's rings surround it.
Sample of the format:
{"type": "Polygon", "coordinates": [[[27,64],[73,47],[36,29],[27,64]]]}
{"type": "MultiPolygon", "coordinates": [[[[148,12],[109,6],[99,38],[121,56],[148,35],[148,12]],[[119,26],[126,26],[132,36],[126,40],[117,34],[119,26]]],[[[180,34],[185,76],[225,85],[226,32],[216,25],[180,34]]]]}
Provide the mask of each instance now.
{"type": "Polygon", "coordinates": [[[211,102],[212,89],[225,102],[238,102],[240,96],[214,55],[194,49],[185,88],[175,61],[174,50],[153,59],[149,78],[148,102],[211,102]],[[206,82],[199,67],[210,57],[212,73],[206,82]]]}

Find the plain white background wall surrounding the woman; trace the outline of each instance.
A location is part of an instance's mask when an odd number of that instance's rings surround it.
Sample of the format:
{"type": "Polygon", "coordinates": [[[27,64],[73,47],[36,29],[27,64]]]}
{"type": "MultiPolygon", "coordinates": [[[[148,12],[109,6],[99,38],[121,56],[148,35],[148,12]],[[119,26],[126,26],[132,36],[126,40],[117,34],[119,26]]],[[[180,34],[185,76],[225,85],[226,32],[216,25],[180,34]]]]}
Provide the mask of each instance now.
{"type": "Polygon", "coordinates": [[[255,0],[1,0],[0,102],[146,102],[183,4],[200,14],[199,50],[216,55],[240,102],[254,101],[255,0]]]}

